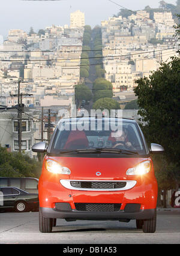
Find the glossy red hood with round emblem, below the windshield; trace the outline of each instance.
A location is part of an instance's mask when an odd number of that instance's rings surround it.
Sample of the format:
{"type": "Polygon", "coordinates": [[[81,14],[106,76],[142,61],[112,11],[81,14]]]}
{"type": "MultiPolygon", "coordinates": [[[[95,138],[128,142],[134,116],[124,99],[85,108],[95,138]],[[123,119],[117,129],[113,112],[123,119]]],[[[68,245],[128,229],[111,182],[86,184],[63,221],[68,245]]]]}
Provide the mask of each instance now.
{"type": "Polygon", "coordinates": [[[67,175],[67,178],[71,180],[127,180],[127,169],[147,160],[145,157],[50,157],[50,159],[69,168],[71,174],[67,175]]]}

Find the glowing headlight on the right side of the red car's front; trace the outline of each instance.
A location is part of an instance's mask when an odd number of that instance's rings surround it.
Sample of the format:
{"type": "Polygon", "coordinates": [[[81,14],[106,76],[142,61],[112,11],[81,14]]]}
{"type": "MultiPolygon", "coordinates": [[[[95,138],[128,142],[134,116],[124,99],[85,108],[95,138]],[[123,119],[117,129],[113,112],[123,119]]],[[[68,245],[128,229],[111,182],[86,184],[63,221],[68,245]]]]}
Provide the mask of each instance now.
{"type": "Polygon", "coordinates": [[[141,163],[139,163],[138,165],[136,165],[133,168],[129,168],[126,172],[127,175],[143,175],[148,173],[149,171],[151,171],[151,161],[150,160],[146,160],[143,161],[141,163]]]}

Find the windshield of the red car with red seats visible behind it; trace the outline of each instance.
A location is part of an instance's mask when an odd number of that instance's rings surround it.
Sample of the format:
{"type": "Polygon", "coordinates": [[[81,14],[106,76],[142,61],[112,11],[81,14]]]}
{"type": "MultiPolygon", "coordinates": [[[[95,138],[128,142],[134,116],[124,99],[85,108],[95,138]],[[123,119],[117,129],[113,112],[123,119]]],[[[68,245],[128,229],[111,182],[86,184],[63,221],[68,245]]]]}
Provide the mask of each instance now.
{"type": "Polygon", "coordinates": [[[56,129],[51,153],[86,150],[146,154],[135,122],[109,120],[62,121],[56,129]],[[108,150],[105,150],[108,149],[108,150]]]}

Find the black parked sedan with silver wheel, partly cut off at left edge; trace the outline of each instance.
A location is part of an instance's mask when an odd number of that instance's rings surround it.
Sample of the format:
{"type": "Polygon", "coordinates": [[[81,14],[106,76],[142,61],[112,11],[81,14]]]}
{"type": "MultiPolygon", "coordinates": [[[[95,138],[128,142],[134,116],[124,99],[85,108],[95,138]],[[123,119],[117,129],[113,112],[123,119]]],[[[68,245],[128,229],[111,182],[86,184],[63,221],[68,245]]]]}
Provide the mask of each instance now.
{"type": "Polygon", "coordinates": [[[16,212],[38,210],[38,194],[30,194],[17,187],[0,187],[0,210],[14,209],[16,212]]]}

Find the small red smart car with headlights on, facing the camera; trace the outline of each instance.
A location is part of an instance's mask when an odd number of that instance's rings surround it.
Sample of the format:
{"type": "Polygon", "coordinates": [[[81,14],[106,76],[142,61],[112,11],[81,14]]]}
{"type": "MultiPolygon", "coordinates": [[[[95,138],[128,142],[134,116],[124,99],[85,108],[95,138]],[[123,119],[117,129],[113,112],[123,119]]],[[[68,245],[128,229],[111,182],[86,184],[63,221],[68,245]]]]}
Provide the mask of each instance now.
{"type": "Polygon", "coordinates": [[[79,117],[62,119],[46,152],[38,189],[40,231],[51,232],[56,219],[66,221],[136,219],[137,228],[154,233],[157,180],[146,144],[134,120],[79,117]]]}

